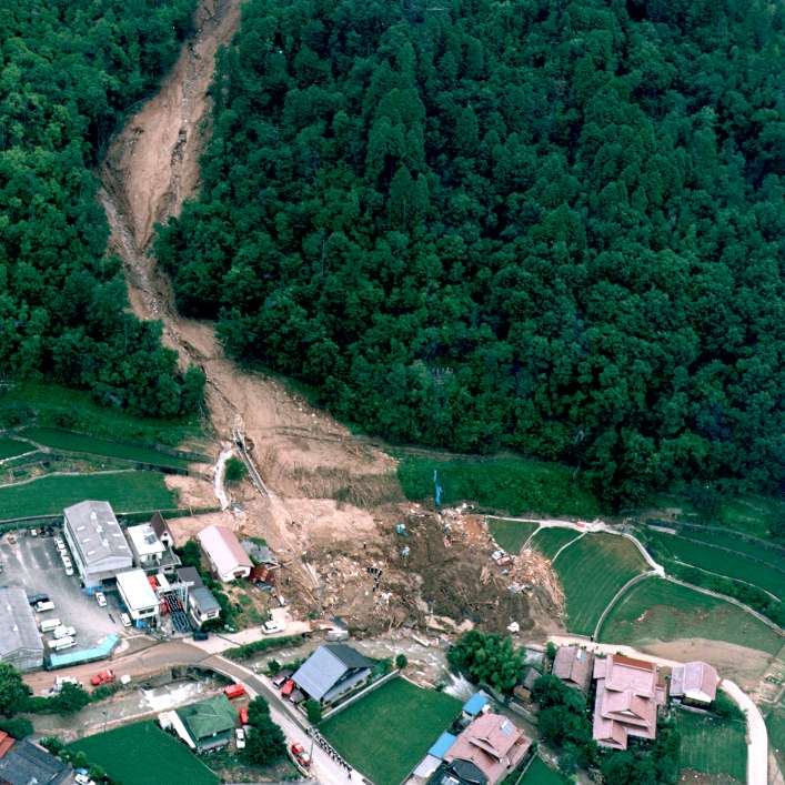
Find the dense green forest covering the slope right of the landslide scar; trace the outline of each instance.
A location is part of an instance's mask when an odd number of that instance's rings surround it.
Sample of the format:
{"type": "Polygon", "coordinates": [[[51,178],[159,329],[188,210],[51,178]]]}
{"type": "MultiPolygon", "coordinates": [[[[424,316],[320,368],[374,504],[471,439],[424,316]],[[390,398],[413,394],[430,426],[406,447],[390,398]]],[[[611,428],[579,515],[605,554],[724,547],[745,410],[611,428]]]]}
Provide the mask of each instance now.
{"type": "Polygon", "coordinates": [[[250,0],[159,259],[239,359],[605,499],[785,463],[785,14],[250,0]]]}

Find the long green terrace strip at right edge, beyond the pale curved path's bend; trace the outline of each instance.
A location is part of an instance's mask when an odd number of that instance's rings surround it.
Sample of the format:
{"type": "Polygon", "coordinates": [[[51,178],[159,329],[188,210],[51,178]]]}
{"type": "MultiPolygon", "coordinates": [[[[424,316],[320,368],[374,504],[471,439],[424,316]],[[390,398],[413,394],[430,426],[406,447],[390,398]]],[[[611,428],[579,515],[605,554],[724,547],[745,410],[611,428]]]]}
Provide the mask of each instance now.
{"type": "Polygon", "coordinates": [[[785,596],[785,573],[768,564],[747,558],[743,553],[731,553],[706,542],[695,542],[664,532],[650,532],[657,553],[665,553],[685,564],[738,578],[765,588],[774,596],[785,596]]]}

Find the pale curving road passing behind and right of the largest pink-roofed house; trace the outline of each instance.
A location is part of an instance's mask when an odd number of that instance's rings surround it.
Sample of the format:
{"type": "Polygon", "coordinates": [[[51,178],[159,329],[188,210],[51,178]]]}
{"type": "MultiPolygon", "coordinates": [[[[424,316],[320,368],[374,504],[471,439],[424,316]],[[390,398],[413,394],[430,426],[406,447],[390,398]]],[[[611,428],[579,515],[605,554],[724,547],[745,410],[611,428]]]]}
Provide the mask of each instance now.
{"type": "MultiPolygon", "coordinates": [[[[632,646],[620,646],[612,643],[594,643],[584,637],[573,635],[551,635],[549,641],[553,641],[557,646],[568,646],[577,644],[585,646],[591,652],[601,654],[616,654],[621,652],[630,657],[637,657],[650,663],[656,663],[665,667],[674,667],[683,663],[675,660],[655,657],[651,654],[638,652],[632,646]]],[[[747,717],[747,785],[767,785],[768,782],[768,734],[763,715],[752,698],[742,688],[727,678],[719,682],[719,688],[744,712],[747,717]]]]}

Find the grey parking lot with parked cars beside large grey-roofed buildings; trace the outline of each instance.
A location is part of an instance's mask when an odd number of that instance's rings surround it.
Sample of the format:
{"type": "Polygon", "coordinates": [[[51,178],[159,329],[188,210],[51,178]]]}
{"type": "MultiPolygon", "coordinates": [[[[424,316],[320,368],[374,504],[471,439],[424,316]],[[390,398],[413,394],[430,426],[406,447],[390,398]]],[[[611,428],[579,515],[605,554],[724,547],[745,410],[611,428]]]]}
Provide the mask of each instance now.
{"type": "Polygon", "coordinates": [[[108,633],[122,632],[117,595],[107,595],[107,607],[99,607],[94,597],[82,592],[78,574],[66,575],[53,537],[32,537],[26,530],[3,534],[0,565],[0,585],[23,586],[28,595],[49,595],[54,610],[36,614],[39,623],[57,617],[76,627],[79,648],[94,646],[108,633]]]}

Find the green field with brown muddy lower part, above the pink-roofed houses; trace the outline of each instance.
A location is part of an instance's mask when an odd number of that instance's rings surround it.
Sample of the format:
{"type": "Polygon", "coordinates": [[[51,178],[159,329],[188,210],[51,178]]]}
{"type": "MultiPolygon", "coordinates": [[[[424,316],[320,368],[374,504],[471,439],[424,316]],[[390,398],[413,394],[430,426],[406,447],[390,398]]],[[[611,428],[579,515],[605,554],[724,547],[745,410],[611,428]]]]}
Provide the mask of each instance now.
{"type": "Polygon", "coordinates": [[[608,614],[600,640],[645,644],[703,637],[776,654],[783,640],[741,607],[717,597],[647,577],[633,586],[608,614]]]}

